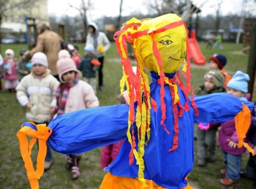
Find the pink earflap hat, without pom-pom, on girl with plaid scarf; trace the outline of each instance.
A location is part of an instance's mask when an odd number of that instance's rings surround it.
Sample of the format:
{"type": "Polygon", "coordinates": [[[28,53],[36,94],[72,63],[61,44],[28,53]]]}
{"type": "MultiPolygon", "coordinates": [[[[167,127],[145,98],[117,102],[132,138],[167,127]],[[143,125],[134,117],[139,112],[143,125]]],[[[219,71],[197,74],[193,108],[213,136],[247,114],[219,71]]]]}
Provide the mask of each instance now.
{"type": "Polygon", "coordinates": [[[61,83],[66,83],[66,81],[64,81],[62,79],[62,75],[64,73],[67,73],[69,71],[75,71],[76,72],[76,77],[80,77],[80,71],[78,69],[76,69],[76,64],[75,62],[71,59],[71,58],[61,58],[57,61],[57,70],[59,73],[59,79],[61,83]]]}

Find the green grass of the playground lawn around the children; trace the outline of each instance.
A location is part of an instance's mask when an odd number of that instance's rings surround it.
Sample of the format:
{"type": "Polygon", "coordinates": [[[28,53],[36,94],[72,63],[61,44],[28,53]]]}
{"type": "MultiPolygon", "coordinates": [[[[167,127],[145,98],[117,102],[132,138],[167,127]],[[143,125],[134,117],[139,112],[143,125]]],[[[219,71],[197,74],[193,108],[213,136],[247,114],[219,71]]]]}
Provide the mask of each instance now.
{"type": "MultiPolygon", "coordinates": [[[[84,44],[76,44],[80,48],[82,55],[84,44]]],[[[242,44],[236,45],[234,43],[224,43],[224,50],[205,49],[206,43],[200,43],[201,51],[208,60],[214,53],[223,53],[228,59],[226,70],[233,75],[237,70],[246,72],[248,55],[242,55],[242,44]]],[[[14,44],[1,46],[1,54],[7,48],[14,49],[16,57],[18,58],[19,50],[27,48],[26,44],[14,44]]],[[[192,66],[192,86],[196,87],[203,84],[203,76],[208,71],[208,65],[192,66]]],[[[116,52],[115,44],[107,51],[104,62],[104,90],[98,91],[98,98],[100,106],[112,105],[116,103],[116,96],[120,93],[119,81],[122,77],[122,67],[120,65],[120,57],[116,52]]],[[[3,80],[2,80],[3,81],[3,80]]],[[[256,87],[254,87],[256,89],[256,87]]],[[[255,94],[255,91],[254,91],[255,94]]],[[[256,101],[256,95],[254,100],[256,101]]],[[[0,183],[1,188],[29,188],[29,182],[26,176],[26,169],[23,160],[20,156],[18,132],[20,125],[25,120],[24,107],[21,107],[16,100],[15,93],[8,93],[4,89],[0,93],[0,183]]],[[[37,147],[35,146],[32,153],[32,159],[36,159],[37,147]]],[[[70,179],[70,171],[64,169],[66,158],[62,154],[54,152],[54,165],[53,167],[42,175],[39,183],[42,189],[96,189],[100,186],[105,172],[99,168],[100,165],[100,152],[101,148],[84,153],[81,160],[81,176],[78,180],[72,181],[70,179]]],[[[206,167],[198,167],[195,163],[194,169],[190,174],[189,181],[198,182],[201,188],[216,189],[226,188],[222,187],[219,179],[222,178],[219,171],[224,168],[223,158],[218,148],[218,159],[215,163],[209,163],[206,167]]],[[[243,155],[243,168],[248,159],[247,155],[243,155]]],[[[196,157],[196,142],[195,142],[195,162],[196,157]]],[[[252,181],[248,179],[241,179],[238,183],[231,188],[252,188],[252,181]]]]}

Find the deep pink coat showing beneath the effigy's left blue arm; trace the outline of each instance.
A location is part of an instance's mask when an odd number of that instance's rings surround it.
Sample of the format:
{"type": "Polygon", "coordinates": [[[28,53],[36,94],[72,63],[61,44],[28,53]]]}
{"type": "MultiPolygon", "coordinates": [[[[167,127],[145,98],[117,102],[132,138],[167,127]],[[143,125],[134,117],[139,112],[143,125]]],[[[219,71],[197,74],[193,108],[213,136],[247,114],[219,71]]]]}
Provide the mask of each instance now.
{"type": "Polygon", "coordinates": [[[118,155],[124,140],[108,146],[103,146],[100,156],[100,168],[104,169],[107,167],[118,155]]]}

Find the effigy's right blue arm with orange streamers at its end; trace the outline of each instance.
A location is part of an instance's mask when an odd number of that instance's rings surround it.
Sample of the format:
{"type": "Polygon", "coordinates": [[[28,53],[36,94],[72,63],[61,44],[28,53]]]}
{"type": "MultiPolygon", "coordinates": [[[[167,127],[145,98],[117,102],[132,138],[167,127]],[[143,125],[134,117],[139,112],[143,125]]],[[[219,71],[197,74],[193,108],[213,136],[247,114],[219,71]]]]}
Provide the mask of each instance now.
{"type": "Polygon", "coordinates": [[[236,133],[238,136],[238,148],[244,146],[254,154],[254,150],[244,142],[246,133],[250,127],[252,102],[241,102],[236,96],[227,93],[214,93],[210,95],[195,96],[198,107],[198,116],[194,116],[194,122],[225,122],[234,118],[236,133]]]}

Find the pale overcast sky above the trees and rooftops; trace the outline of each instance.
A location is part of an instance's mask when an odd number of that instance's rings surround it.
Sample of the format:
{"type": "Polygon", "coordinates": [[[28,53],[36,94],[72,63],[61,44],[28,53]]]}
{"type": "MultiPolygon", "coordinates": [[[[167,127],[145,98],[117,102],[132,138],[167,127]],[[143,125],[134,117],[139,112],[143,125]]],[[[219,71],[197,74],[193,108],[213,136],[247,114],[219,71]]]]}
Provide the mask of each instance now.
{"type": "MultiPolygon", "coordinates": [[[[216,3],[220,0],[193,0],[194,4],[202,7],[202,16],[207,14],[215,14],[216,3]],[[202,6],[202,2],[206,2],[202,6]]],[[[48,0],[48,13],[57,17],[67,14],[68,16],[76,16],[79,14],[75,8],[70,8],[69,3],[72,6],[78,7],[81,4],[81,0],[48,0]],[[60,3],[61,2],[61,3],[60,3]]],[[[92,0],[94,4],[94,10],[88,12],[88,21],[95,21],[102,16],[118,16],[120,0],[92,0]]],[[[147,14],[145,0],[123,0],[122,16],[128,16],[132,12],[140,12],[147,14]]],[[[227,15],[229,13],[242,13],[243,0],[222,0],[221,14],[227,15]]]]}

